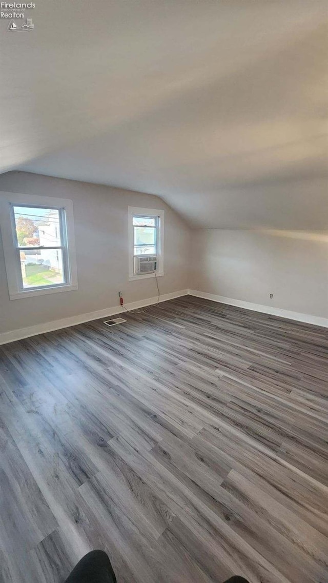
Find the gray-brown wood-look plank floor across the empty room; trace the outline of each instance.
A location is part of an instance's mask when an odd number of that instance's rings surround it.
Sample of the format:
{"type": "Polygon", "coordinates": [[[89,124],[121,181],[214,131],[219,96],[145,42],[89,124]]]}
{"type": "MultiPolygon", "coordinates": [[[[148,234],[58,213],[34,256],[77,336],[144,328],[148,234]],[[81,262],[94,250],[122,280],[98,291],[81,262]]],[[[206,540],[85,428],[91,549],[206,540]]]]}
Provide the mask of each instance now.
{"type": "Polygon", "coordinates": [[[185,296],[0,349],[2,581],[328,581],[328,334],[185,296]]]}

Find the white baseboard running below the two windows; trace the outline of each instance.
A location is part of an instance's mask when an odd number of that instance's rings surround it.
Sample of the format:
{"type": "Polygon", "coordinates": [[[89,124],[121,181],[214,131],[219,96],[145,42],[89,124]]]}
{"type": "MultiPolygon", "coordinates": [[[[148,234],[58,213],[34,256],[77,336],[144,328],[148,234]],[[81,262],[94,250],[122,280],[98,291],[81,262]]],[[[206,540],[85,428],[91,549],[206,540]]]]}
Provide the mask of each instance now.
{"type": "MultiPolygon", "coordinates": [[[[160,302],[174,300],[175,297],[186,296],[188,291],[189,290],[180,290],[165,293],[160,296],[160,302]]],[[[129,304],[125,304],[125,307],[127,310],[136,310],[137,308],[143,308],[146,305],[155,304],[156,302],[157,296],[154,296],[149,297],[146,300],[133,301],[129,304]]],[[[115,305],[112,308],[105,308],[105,310],[89,312],[89,314],[79,314],[78,316],[72,316],[70,318],[62,318],[61,320],[45,322],[44,324],[28,326],[27,328],[20,328],[19,330],[13,330],[12,332],[3,332],[0,333],[0,345],[7,344],[8,342],[15,342],[15,340],[22,340],[23,338],[29,338],[30,336],[36,336],[37,334],[52,332],[61,328],[68,328],[69,326],[75,326],[76,324],[83,324],[84,322],[90,322],[91,320],[96,320],[98,318],[107,318],[108,316],[114,316],[115,314],[122,314],[122,312],[125,312],[124,308],[120,305],[115,305]]]]}

